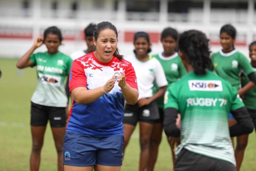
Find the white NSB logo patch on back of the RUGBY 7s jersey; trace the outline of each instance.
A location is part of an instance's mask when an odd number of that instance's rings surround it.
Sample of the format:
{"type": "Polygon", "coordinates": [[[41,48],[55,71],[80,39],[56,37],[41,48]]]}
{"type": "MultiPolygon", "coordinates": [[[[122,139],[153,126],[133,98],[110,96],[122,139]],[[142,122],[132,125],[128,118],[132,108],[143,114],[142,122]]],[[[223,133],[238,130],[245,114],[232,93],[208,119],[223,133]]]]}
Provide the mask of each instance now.
{"type": "Polygon", "coordinates": [[[219,80],[189,80],[190,91],[222,91],[219,80]]]}

